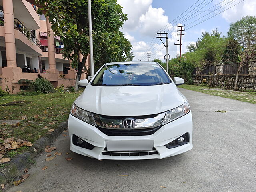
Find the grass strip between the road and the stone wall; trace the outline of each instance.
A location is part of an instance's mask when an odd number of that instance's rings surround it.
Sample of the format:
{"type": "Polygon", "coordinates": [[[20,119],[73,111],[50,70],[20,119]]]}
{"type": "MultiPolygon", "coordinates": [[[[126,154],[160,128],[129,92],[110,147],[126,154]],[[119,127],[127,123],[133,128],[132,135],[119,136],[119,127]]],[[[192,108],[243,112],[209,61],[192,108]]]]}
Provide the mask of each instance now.
{"type": "Polygon", "coordinates": [[[210,95],[216,95],[220,97],[225,97],[225,98],[230,98],[230,99],[235,99],[239,101],[256,104],[256,92],[241,92],[241,91],[234,91],[234,90],[228,90],[228,89],[212,88],[212,87],[198,86],[198,85],[187,85],[187,84],[183,84],[178,87],[189,89],[192,91],[207,93],[210,95]]]}

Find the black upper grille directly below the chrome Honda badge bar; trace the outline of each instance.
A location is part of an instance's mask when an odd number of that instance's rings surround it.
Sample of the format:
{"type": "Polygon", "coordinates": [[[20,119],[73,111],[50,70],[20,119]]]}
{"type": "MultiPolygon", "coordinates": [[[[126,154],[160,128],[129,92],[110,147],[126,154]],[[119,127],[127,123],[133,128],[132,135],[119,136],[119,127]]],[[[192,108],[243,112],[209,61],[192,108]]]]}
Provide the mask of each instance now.
{"type": "Polygon", "coordinates": [[[155,133],[158,129],[160,129],[161,126],[149,128],[149,129],[106,129],[102,127],[97,128],[104,134],[108,136],[141,136],[141,135],[152,135],[155,133]]]}

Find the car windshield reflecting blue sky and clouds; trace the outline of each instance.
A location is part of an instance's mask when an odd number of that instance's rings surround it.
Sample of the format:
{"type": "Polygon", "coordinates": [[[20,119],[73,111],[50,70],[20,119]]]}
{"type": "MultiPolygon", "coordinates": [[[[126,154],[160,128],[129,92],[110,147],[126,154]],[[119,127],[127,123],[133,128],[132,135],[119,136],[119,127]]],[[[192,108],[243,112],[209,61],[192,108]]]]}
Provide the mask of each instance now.
{"type": "Polygon", "coordinates": [[[168,84],[171,80],[157,63],[109,64],[94,78],[94,86],[145,86],[168,84]]]}

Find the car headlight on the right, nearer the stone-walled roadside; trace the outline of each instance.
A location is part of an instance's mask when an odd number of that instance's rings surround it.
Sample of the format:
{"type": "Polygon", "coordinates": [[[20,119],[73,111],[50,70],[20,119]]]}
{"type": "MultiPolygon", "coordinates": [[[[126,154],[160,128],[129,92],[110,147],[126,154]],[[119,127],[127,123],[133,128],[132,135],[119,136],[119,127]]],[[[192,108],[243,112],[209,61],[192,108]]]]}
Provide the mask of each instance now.
{"type": "Polygon", "coordinates": [[[165,114],[164,120],[162,122],[162,125],[186,115],[189,111],[190,111],[189,105],[188,105],[188,102],[186,101],[181,106],[179,106],[175,109],[172,109],[170,111],[167,111],[165,114]]]}

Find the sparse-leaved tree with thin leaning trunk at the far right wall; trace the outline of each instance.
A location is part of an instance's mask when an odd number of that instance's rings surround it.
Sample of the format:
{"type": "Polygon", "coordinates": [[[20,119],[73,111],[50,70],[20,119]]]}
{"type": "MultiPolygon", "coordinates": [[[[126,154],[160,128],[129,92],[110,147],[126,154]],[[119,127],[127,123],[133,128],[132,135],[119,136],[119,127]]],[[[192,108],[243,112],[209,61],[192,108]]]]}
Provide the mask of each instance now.
{"type": "Polygon", "coordinates": [[[236,90],[238,74],[240,74],[241,68],[256,57],[256,17],[246,16],[230,24],[228,37],[236,40],[241,46],[239,54],[241,62],[238,65],[234,85],[234,89],[236,90]]]}

